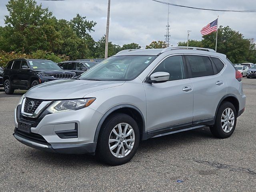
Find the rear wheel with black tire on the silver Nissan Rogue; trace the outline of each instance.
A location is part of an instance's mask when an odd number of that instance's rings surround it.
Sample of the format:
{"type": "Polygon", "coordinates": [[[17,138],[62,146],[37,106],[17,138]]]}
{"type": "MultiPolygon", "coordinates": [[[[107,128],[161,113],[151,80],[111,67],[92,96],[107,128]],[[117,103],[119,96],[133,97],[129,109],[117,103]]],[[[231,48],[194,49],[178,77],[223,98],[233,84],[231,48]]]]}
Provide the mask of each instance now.
{"type": "Polygon", "coordinates": [[[233,134],[236,128],[236,119],[237,119],[237,114],[236,114],[236,108],[234,107],[234,105],[230,102],[223,102],[218,108],[217,116],[215,118],[215,124],[214,126],[210,127],[210,131],[217,138],[222,138],[222,139],[228,138],[233,134]],[[232,112],[233,112],[233,115],[231,115],[232,112]],[[226,114],[227,115],[230,114],[228,119],[226,118],[226,114]],[[224,126],[224,124],[226,124],[226,126],[224,126]],[[230,124],[230,127],[229,127],[229,124],[230,124]]]}

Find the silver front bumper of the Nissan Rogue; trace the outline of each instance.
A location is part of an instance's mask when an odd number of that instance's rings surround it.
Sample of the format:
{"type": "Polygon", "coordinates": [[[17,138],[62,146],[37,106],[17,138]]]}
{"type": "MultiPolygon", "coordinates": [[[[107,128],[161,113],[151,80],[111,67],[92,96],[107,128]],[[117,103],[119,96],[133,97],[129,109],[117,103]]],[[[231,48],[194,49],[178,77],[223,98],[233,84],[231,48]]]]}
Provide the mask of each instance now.
{"type": "Polygon", "coordinates": [[[33,123],[31,122],[32,118],[24,118],[22,116],[20,106],[18,106],[15,110],[14,124],[16,128],[13,135],[21,143],[44,151],[65,154],[94,153],[96,149],[94,135],[101,118],[101,113],[86,107],[80,110],[54,114],[42,112],[33,123]],[[17,132],[18,121],[32,124],[31,134],[42,137],[44,142],[33,140],[30,135],[26,136],[26,133],[19,134],[17,132]],[[58,134],[62,131],[75,130],[76,125],[78,130],[76,138],[61,138],[60,134],[58,134]]]}

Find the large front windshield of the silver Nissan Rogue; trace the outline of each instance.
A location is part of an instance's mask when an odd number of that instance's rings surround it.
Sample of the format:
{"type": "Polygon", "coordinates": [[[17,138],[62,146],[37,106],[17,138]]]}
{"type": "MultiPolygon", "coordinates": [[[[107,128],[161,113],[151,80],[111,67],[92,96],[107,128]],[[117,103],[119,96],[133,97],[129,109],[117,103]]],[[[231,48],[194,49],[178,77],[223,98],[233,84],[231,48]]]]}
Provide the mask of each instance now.
{"type": "Polygon", "coordinates": [[[110,57],[82,74],[82,80],[129,81],[145,70],[157,56],[131,55],[110,57]]]}

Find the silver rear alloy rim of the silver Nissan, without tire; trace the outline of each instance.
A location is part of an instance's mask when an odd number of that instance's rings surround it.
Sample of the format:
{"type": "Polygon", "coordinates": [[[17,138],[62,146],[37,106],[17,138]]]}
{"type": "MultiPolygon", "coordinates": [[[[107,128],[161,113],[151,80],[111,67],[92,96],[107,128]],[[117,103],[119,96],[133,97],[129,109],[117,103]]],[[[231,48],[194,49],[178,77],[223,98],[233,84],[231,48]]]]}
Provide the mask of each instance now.
{"type": "Polygon", "coordinates": [[[228,133],[234,127],[235,115],[231,108],[226,108],[222,113],[221,126],[224,132],[228,133]]]}

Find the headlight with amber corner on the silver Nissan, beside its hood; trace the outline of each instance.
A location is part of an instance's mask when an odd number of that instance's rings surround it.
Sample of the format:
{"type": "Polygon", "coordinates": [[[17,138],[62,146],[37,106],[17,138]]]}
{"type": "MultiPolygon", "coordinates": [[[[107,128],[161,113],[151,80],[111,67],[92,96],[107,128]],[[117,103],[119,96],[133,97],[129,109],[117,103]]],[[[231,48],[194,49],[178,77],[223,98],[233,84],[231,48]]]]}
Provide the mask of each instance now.
{"type": "Polygon", "coordinates": [[[78,110],[78,109],[88,107],[95,100],[96,98],[55,101],[48,107],[47,110],[50,113],[56,113],[56,112],[62,112],[62,111],[68,111],[68,110],[78,110]]]}

